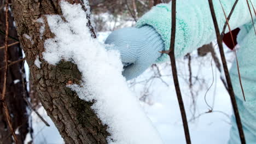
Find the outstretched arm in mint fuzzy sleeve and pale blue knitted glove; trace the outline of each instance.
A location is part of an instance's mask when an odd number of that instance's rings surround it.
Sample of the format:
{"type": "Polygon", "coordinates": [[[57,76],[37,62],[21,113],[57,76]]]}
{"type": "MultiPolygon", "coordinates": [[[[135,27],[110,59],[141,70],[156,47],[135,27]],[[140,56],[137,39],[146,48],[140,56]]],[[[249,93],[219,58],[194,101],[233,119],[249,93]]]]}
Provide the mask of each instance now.
{"type": "MultiPolygon", "coordinates": [[[[253,4],[256,2],[256,0],[251,1],[253,4]]],[[[234,2],[235,0],[222,0],[226,15],[230,13],[234,2]]],[[[213,3],[219,28],[222,31],[225,16],[219,1],[213,3]]],[[[171,12],[171,3],[156,5],[139,19],[136,28],[119,29],[110,34],[105,41],[106,44],[115,45],[111,49],[120,51],[121,60],[127,65],[123,72],[127,80],[142,74],[154,62],[168,61],[168,56],[160,55],[159,51],[168,50],[170,47],[171,12]]],[[[251,16],[247,2],[240,0],[229,21],[230,26],[234,29],[249,21],[251,16]]],[[[214,39],[216,34],[208,1],[177,1],[176,57],[182,57],[214,39]]]]}

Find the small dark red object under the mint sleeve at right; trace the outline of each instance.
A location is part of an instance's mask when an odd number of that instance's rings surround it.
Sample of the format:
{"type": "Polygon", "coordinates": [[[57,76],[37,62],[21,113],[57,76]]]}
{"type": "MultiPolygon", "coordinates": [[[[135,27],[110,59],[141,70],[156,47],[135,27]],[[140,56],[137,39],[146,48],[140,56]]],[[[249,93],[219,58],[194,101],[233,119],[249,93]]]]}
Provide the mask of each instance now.
{"type": "Polygon", "coordinates": [[[223,42],[226,44],[226,46],[229,47],[229,49],[233,50],[235,48],[235,46],[237,45],[237,41],[236,41],[236,37],[237,37],[237,34],[239,33],[240,31],[240,28],[236,28],[232,31],[232,35],[233,35],[233,38],[234,38],[234,43],[235,45],[233,45],[232,43],[232,39],[231,39],[231,35],[230,35],[230,32],[226,33],[223,37],[223,42]]]}

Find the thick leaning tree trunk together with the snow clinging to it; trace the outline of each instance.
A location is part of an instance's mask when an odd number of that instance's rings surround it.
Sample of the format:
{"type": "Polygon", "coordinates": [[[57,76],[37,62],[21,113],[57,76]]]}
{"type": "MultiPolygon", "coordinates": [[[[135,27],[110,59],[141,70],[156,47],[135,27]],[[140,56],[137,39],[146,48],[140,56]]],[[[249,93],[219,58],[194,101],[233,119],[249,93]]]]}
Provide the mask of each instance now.
{"type": "Polygon", "coordinates": [[[13,4],[44,108],[66,143],[162,143],[121,75],[119,53],[94,39],[86,5],[78,0],[13,4]]]}

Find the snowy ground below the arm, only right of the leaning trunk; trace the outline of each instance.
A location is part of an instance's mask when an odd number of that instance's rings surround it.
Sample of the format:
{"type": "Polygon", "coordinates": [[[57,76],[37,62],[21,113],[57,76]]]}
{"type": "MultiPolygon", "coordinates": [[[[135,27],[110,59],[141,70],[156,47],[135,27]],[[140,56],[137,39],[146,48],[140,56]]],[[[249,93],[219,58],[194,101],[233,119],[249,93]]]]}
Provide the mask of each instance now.
{"type": "MultiPolygon", "coordinates": [[[[199,83],[193,87],[201,88],[199,95],[197,97],[196,103],[196,114],[195,117],[199,116],[200,113],[205,113],[208,111],[209,107],[206,105],[204,97],[207,91],[207,88],[211,85],[212,74],[211,74],[211,64],[210,57],[206,61],[206,65],[203,65],[200,68],[198,62],[193,61],[192,63],[192,73],[196,74],[199,71],[200,77],[205,77],[207,87],[199,87],[199,83]]],[[[201,59],[201,58],[200,58],[201,59]]],[[[187,66],[187,60],[179,60],[178,62],[178,71],[186,70],[182,66],[187,66]],[[182,62],[181,62],[182,61],[182,62]]],[[[213,68],[215,66],[213,65],[213,68]]],[[[215,71],[215,70],[214,70],[215,71]]],[[[161,71],[162,75],[170,74],[171,67],[165,68],[161,71]]],[[[142,77],[147,77],[147,74],[150,73],[150,70],[146,71],[138,79],[142,77]]],[[[164,81],[170,85],[169,87],[162,83],[160,80],[155,80],[152,83],[152,86],[149,89],[149,101],[148,105],[142,103],[144,110],[146,111],[148,117],[154,123],[155,127],[158,129],[164,143],[185,143],[183,125],[181,114],[179,111],[178,100],[176,98],[176,92],[173,85],[172,77],[163,77],[164,81]]],[[[139,80],[137,80],[139,81],[139,80]]],[[[179,78],[181,91],[183,94],[183,100],[185,109],[187,112],[188,119],[192,118],[192,113],[190,112],[191,105],[191,95],[189,92],[188,80],[184,81],[181,77],[179,78]]],[[[206,113],[201,115],[199,118],[196,118],[194,121],[189,122],[190,136],[192,143],[226,143],[229,139],[229,130],[230,130],[230,115],[232,113],[231,104],[229,95],[223,87],[222,82],[219,79],[219,73],[214,74],[214,85],[207,94],[207,101],[212,106],[213,98],[214,101],[214,111],[222,111],[228,114],[224,115],[220,112],[206,113]],[[214,91],[216,86],[216,93],[214,97],[214,91]]],[[[140,97],[141,91],[143,91],[143,86],[137,86],[135,91],[137,96],[140,97]]]]}

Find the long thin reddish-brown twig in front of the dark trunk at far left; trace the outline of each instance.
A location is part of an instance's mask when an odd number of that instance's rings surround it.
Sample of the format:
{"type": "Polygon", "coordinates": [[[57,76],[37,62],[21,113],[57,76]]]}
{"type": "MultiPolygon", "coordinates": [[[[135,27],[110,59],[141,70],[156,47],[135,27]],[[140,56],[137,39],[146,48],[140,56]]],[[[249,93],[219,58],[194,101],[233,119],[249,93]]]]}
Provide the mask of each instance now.
{"type": "Polygon", "coordinates": [[[10,113],[8,111],[8,107],[5,101],[5,92],[6,92],[6,83],[7,83],[7,72],[8,72],[8,34],[9,34],[9,1],[5,1],[5,42],[4,42],[4,62],[5,62],[5,70],[4,70],[4,81],[3,81],[3,92],[1,101],[3,102],[3,108],[5,112],[5,117],[7,119],[8,125],[10,127],[11,133],[13,133],[14,141],[18,144],[17,136],[13,130],[13,125],[11,124],[10,113]]]}

